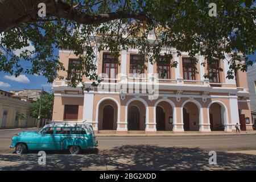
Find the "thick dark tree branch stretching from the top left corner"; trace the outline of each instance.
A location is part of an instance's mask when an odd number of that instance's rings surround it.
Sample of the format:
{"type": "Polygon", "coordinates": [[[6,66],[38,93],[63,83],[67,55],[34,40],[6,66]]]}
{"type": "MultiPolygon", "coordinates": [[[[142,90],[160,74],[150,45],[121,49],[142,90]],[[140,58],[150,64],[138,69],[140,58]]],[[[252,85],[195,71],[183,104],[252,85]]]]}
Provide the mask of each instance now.
{"type": "Polygon", "coordinates": [[[46,15],[69,19],[79,24],[101,24],[115,19],[133,18],[151,22],[151,19],[142,13],[117,11],[98,15],[81,13],[73,6],[61,0],[2,0],[0,3],[0,32],[19,27],[22,23],[42,21],[38,16],[38,4],[46,3],[46,15]],[[11,10],[11,11],[10,11],[11,10]]]}

